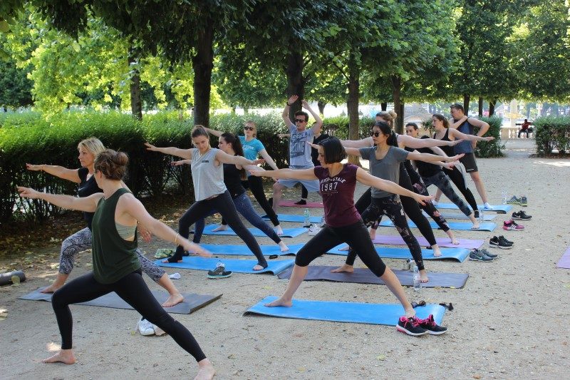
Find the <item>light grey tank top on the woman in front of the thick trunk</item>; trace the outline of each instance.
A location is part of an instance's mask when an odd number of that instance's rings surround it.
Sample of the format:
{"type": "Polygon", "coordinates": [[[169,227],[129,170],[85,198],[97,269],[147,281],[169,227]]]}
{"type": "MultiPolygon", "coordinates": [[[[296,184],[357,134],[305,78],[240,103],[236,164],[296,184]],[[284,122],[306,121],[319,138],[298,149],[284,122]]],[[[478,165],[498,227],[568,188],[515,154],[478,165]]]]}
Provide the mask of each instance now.
{"type": "Polygon", "coordinates": [[[224,165],[215,165],[218,151],[219,149],[211,148],[200,155],[199,150],[192,150],[192,183],[196,202],[226,191],[224,165]]]}

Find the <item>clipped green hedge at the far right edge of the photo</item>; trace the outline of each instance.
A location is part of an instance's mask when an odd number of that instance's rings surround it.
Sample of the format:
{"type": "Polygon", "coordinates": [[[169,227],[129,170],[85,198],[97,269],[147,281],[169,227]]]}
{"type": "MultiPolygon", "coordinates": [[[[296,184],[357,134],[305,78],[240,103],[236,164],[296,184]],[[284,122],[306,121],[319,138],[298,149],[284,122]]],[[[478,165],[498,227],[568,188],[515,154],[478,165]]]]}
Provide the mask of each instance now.
{"type": "Polygon", "coordinates": [[[534,120],[534,138],[538,155],[570,151],[570,116],[544,116],[534,120]]]}

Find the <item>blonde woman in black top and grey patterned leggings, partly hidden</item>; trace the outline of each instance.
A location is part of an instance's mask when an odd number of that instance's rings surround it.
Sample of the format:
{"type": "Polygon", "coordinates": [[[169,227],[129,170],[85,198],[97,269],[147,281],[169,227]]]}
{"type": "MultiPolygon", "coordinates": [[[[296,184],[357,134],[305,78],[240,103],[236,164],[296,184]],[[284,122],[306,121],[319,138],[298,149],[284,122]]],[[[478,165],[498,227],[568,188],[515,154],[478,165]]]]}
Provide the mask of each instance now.
{"type": "MultiPolygon", "coordinates": [[[[79,197],[88,197],[89,195],[97,192],[103,192],[93,177],[93,165],[96,156],[105,150],[105,146],[98,138],[87,138],[82,140],[78,145],[79,163],[81,168],[68,169],[58,165],[32,165],[26,164],[26,169],[33,171],[44,171],[48,174],[55,175],[63,180],[69,180],[73,183],[79,184],[78,195],[79,197]]],[[[124,188],[126,185],[121,182],[124,188]]],[[[57,289],[63,287],[66,283],[71,270],[73,269],[73,262],[77,254],[81,251],[90,249],[93,238],[91,235],[91,220],[93,220],[93,212],[83,212],[83,217],[87,222],[87,227],[79,230],[71,236],[66,237],[61,243],[61,252],[59,254],[59,272],[56,280],[46,289],[41,290],[42,293],[53,293],[57,289]]],[[[145,228],[140,228],[142,239],[145,242],[150,242],[150,233],[145,228]]],[[[161,287],[165,288],[169,294],[168,299],[162,304],[163,307],[172,307],[184,300],[182,294],[172,283],[165,270],[158,267],[154,262],[148,260],[140,250],[136,250],[142,272],[157,282],[161,287]]]]}

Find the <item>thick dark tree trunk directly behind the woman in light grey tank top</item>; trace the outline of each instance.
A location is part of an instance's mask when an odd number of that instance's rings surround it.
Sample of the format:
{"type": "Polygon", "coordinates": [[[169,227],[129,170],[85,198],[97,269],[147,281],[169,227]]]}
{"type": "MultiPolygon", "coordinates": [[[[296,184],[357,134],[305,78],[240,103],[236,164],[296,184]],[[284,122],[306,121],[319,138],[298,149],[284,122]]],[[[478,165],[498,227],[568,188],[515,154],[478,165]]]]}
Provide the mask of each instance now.
{"type": "Polygon", "coordinates": [[[194,66],[194,125],[209,126],[209,95],[212,90],[212,68],[214,68],[214,29],[207,23],[197,33],[196,54],[192,56],[194,66]]]}

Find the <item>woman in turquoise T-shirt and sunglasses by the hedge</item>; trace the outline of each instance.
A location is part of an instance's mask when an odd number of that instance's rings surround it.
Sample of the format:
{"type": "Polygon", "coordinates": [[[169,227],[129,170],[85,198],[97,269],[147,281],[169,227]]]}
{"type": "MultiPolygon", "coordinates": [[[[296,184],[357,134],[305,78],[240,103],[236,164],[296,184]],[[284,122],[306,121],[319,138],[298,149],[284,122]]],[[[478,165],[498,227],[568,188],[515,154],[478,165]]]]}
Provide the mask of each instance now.
{"type": "MultiPolygon", "coordinates": [[[[217,136],[218,138],[222,135],[223,132],[219,130],[215,130],[212,128],[204,128],[207,130],[208,133],[217,136]]],[[[271,155],[267,153],[263,143],[257,139],[257,125],[252,120],[247,120],[244,125],[244,135],[238,136],[239,141],[242,143],[242,147],[244,150],[244,157],[248,160],[257,160],[257,157],[260,155],[261,158],[265,160],[267,165],[271,167],[273,170],[278,170],[277,165],[271,155]]],[[[263,180],[259,177],[252,177],[251,175],[247,174],[247,185],[244,183],[244,188],[248,188],[252,190],[252,194],[255,197],[255,200],[259,203],[261,208],[264,210],[265,215],[269,217],[271,223],[275,227],[275,232],[277,235],[283,235],[283,229],[281,225],[279,225],[279,220],[277,219],[277,215],[271,205],[269,205],[269,201],[265,196],[265,191],[263,188],[263,180]]],[[[227,230],[227,223],[225,220],[222,219],[222,225],[216,228],[214,231],[224,231],[227,230]]]]}

